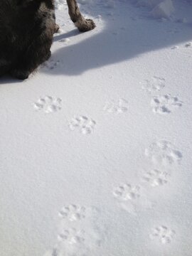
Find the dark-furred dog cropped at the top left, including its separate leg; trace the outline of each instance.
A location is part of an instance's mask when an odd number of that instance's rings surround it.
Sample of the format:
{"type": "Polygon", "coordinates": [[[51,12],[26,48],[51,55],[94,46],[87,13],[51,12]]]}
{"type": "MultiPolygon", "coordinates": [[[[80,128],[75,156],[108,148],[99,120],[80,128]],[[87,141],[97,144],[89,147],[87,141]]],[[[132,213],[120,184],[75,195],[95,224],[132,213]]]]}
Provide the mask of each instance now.
{"type": "MultiPolygon", "coordinates": [[[[68,13],[81,32],[95,28],[75,0],[67,0],[68,13]]],[[[55,23],[54,0],[0,0],[0,76],[9,73],[25,80],[50,58],[55,23]]]]}

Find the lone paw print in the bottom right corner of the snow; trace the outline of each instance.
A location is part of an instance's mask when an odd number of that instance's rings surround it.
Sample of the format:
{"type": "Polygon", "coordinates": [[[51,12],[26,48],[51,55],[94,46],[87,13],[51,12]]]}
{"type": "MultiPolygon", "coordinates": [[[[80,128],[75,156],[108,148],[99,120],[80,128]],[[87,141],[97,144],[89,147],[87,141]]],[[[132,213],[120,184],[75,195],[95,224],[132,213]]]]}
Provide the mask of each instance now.
{"type": "Polygon", "coordinates": [[[156,227],[152,230],[151,235],[149,237],[154,240],[157,239],[162,244],[168,244],[170,243],[173,238],[175,237],[176,232],[174,230],[171,230],[170,228],[167,228],[164,225],[161,225],[159,227],[156,227]]]}

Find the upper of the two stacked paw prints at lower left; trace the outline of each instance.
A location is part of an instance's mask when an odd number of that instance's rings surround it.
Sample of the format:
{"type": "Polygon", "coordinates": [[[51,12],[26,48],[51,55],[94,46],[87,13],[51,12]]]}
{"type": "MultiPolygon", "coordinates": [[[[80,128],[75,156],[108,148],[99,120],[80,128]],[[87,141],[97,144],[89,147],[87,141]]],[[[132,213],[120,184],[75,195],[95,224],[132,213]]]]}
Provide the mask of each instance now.
{"type": "Polygon", "coordinates": [[[65,206],[60,210],[59,215],[61,218],[70,221],[82,220],[85,218],[85,207],[75,205],[65,206]]]}

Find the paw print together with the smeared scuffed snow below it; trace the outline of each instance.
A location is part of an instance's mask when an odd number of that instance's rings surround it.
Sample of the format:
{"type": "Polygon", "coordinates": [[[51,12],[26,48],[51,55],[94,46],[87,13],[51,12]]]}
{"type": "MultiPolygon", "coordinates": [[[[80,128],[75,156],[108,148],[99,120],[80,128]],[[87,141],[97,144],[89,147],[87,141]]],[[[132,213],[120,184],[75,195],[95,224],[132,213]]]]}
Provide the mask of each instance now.
{"type": "Polygon", "coordinates": [[[153,207],[152,203],[146,198],[142,186],[135,186],[124,183],[117,186],[112,191],[114,198],[120,208],[128,213],[135,214],[139,210],[153,207]]]}

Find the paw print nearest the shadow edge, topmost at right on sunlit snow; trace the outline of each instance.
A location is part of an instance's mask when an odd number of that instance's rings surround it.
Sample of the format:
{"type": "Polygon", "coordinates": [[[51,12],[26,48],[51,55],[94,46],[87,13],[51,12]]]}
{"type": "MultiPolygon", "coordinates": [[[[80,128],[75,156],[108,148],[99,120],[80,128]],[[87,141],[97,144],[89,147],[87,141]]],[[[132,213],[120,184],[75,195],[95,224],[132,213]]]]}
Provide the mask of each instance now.
{"type": "Polygon", "coordinates": [[[144,82],[142,82],[142,89],[149,93],[159,92],[165,85],[166,81],[164,78],[154,76],[151,80],[144,80],[144,82]]]}

